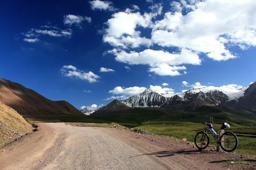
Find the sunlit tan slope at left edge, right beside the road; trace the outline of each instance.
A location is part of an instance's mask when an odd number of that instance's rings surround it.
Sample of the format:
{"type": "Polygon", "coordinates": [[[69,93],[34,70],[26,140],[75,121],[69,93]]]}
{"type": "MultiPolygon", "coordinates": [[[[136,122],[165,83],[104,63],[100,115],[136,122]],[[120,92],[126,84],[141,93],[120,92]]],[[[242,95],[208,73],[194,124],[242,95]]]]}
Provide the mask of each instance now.
{"type": "Polygon", "coordinates": [[[0,147],[31,131],[32,126],[17,111],[0,102],[0,147]]]}

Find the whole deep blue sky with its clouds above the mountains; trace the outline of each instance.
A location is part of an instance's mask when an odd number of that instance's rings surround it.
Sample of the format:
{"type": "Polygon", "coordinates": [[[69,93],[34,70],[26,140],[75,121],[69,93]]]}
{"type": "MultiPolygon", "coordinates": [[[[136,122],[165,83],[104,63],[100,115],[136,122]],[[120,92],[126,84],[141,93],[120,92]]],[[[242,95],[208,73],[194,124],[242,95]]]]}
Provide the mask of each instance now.
{"type": "Polygon", "coordinates": [[[240,88],[256,76],[255,8],[249,0],[1,2],[0,77],[77,108],[145,88],[240,88]]]}

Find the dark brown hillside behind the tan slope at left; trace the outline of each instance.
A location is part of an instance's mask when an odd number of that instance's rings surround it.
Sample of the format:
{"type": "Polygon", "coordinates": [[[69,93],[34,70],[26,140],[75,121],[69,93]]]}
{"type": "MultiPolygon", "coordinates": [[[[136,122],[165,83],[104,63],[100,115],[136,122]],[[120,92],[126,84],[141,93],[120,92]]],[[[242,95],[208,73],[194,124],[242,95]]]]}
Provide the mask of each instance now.
{"type": "Polygon", "coordinates": [[[34,90],[5,79],[0,79],[0,101],[25,117],[36,116],[36,113],[82,115],[66,101],[51,101],[34,90]]]}

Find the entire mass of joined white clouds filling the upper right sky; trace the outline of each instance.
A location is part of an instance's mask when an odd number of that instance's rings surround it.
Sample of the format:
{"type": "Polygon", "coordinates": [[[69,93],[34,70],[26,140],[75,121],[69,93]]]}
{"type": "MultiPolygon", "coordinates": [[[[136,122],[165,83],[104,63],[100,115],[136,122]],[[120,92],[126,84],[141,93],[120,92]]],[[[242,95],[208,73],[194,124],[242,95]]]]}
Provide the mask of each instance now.
{"type": "Polygon", "coordinates": [[[149,8],[150,13],[119,11],[106,22],[103,41],[113,46],[117,61],[146,64],[150,72],[177,76],[187,73],[184,64],[200,65],[199,55],[229,60],[236,58],[230,46],[256,46],[256,1],[172,1],[171,11],[162,18],[156,16],[163,4],[149,8]],[[150,38],[141,33],[144,29],[151,30],[150,38]],[[170,47],[178,50],[170,52],[170,47]]]}

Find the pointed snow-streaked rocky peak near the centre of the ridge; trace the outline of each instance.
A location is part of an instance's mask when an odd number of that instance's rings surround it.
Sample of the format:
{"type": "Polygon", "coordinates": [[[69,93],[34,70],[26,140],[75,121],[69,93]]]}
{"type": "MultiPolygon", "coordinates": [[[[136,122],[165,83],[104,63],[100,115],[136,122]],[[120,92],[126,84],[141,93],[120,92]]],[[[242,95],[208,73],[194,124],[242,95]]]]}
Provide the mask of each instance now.
{"type": "Polygon", "coordinates": [[[128,99],[122,101],[129,107],[135,108],[158,108],[162,106],[167,101],[167,98],[161,94],[157,94],[153,90],[147,89],[139,95],[131,96],[128,99]]]}

